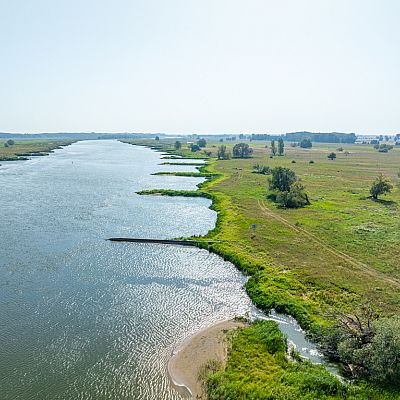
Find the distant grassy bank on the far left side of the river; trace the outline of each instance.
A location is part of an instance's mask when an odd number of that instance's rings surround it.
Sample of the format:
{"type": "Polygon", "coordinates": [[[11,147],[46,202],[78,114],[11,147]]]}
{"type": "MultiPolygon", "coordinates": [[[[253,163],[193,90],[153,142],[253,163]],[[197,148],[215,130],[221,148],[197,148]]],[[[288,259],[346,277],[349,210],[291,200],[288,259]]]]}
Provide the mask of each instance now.
{"type": "Polygon", "coordinates": [[[48,155],[60,146],[67,146],[74,141],[70,140],[20,140],[5,147],[5,141],[0,140],[0,161],[26,160],[31,154],[48,155]]]}

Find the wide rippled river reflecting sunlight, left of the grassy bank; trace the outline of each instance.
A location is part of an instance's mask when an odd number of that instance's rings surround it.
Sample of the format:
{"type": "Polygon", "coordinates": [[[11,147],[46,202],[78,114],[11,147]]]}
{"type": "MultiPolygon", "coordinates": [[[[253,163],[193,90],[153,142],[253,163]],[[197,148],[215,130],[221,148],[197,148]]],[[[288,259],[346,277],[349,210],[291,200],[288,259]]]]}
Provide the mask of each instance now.
{"type": "Polygon", "coordinates": [[[117,141],[0,166],[0,398],[179,399],[166,363],[188,335],[250,310],[234,267],[204,250],[111,243],[204,234],[194,170],[117,141]]]}

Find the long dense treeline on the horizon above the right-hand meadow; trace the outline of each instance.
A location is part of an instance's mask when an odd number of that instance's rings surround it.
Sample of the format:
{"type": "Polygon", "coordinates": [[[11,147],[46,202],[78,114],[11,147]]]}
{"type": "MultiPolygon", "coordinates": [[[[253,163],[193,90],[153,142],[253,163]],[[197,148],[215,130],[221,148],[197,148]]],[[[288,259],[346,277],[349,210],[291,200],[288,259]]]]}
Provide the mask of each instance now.
{"type": "Polygon", "coordinates": [[[315,133],[315,132],[290,132],[285,135],[269,135],[269,134],[253,134],[251,135],[252,140],[283,140],[291,142],[300,142],[303,139],[309,138],[313,142],[323,143],[354,143],[357,139],[355,133],[340,133],[340,132],[329,132],[329,133],[315,133]]]}

